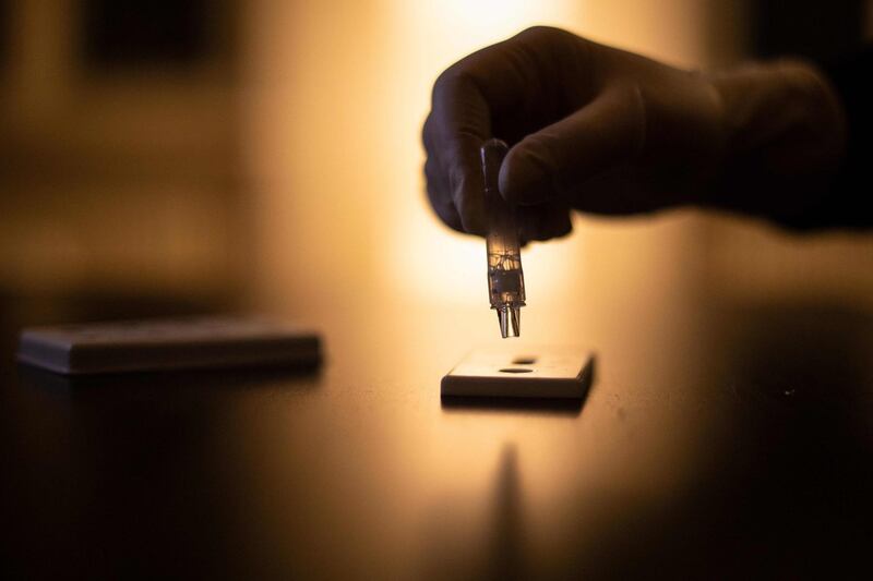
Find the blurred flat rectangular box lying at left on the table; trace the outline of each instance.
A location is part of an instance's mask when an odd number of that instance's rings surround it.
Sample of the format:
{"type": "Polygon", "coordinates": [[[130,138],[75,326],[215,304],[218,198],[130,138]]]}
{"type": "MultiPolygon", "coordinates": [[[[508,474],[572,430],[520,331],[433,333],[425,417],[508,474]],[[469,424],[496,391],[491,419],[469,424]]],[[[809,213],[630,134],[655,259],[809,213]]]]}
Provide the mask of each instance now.
{"type": "Polygon", "coordinates": [[[319,336],[262,318],[184,317],[24,329],[17,359],[64,375],[254,365],[314,366],[319,336]]]}

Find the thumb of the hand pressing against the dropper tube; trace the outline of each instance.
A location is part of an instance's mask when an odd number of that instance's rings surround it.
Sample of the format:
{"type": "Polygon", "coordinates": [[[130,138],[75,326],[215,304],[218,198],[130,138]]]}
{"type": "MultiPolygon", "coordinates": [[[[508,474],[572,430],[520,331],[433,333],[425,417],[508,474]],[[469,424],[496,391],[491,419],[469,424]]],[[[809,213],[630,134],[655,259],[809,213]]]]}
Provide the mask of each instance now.
{"type": "Polygon", "coordinates": [[[516,205],[570,197],[588,179],[638,155],[644,111],[635,86],[602,93],[510,149],[500,169],[500,192],[516,205]]]}

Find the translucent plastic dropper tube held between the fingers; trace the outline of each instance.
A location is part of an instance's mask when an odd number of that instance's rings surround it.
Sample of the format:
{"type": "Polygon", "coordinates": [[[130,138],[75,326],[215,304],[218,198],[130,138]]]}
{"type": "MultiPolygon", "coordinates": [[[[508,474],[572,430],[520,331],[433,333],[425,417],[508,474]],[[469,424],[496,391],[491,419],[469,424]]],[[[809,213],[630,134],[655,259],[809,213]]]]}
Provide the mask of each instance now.
{"type": "Polygon", "coordinates": [[[491,308],[498,313],[500,335],[518,337],[521,307],[525,305],[525,277],[522,273],[522,252],[515,210],[498,189],[500,166],[509,147],[500,140],[489,140],[482,145],[482,177],[485,203],[488,213],[488,296],[491,308]]]}

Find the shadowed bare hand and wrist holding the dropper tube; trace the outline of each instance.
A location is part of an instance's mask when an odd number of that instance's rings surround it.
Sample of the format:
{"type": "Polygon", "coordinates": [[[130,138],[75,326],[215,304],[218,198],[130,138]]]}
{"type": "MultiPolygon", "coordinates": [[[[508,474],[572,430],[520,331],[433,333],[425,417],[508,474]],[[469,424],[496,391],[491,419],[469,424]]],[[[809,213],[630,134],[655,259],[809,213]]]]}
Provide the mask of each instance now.
{"type": "Polygon", "coordinates": [[[802,61],[704,74],[535,27],[434,84],[428,197],[462,232],[485,233],[479,148],[490,137],[511,146],[500,191],[530,241],[569,233],[571,209],[698,205],[790,220],[825,195],[845,122],[827,81],[802,61]]]}

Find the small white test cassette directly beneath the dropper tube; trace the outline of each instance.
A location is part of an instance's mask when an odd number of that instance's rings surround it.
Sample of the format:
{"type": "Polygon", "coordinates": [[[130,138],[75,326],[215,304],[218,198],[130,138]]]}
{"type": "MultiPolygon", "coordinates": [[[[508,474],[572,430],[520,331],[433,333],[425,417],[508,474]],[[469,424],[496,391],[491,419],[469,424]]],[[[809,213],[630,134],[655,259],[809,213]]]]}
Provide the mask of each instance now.
{"type": "Polygon", "coordinates": [[[594,354],[573,347],[480,349],[441,382],[443,396],[582,399],[594,377],[594,354]]]}

